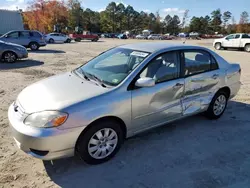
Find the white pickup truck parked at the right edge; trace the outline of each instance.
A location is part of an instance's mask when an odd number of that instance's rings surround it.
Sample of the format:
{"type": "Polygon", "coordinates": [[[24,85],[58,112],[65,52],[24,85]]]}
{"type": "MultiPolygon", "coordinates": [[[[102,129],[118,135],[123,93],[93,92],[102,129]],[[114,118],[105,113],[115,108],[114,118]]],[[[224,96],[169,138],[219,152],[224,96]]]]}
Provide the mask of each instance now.
{"type": "Polygon", "coordinates": [[[214,40],[213,46],[216,50],[220,50],[222,48],[236,48],[244,49],[246,52],[250,52],[250,35],[245,33],[228,35],[222,39],[214,40]]]}

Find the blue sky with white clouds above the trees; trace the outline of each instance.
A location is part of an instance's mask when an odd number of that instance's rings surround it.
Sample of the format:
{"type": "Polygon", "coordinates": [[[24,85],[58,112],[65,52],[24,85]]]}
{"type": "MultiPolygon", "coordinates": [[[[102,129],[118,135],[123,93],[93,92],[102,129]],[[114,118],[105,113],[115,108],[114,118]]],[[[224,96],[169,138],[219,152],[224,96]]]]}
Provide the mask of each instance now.
{"type": "MultiPolygon", "coordinates": [[[[66,1],[66,0],[65,0],[66,1]]],[[[27,7],[30,0],[0,0],[0,9],[16,10],[27,7]]],[[[90,8],[94,11],[104,10],[111,0],[81,0],[83,8],[90,8]]],[[[250,0],[237,0],[231,3],[230,0],[114,0],[116,3],[123,3],[125,6],[131,5],[137,11],[160,12],[164,18],[167,14],[178,15],[180,18],[183,12],[189,10],[189,19],[193,16],[205,16],[220,8],[222,12],[232,12],[236,21],[239,21],[240,14],[248,11],[250,14],[250,0]]]]}

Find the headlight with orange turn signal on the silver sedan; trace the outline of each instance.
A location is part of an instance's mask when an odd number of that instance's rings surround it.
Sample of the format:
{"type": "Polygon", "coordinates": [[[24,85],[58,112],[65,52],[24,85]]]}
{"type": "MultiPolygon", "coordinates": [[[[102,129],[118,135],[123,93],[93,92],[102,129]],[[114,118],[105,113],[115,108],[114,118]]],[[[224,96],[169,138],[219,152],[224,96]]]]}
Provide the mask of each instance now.
{"type": "Polygon", "coordinates": [[[68,114],[58,111],[43,111],[30,114],[25,118],[24,124],[34,127],[50,128],[62,125],[68,118],[68,114]]]}

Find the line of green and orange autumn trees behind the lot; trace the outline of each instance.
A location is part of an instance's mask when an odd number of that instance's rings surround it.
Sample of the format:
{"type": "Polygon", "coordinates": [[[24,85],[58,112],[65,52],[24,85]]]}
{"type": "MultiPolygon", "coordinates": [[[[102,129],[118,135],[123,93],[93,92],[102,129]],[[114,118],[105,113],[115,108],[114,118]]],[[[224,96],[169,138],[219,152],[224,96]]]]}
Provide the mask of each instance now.
{"type": "Polygon", "coordinates": [[[192,17],[187,23],[189,10],[186,10],[182,19],[178,15],[160,16],[156,13],[136,11],[132,6],[111,2],[103,11],[84,9],[79,0],[35,0],[22,13],[26,29],[36,29],[41,32],[73,32],[88,30],[95,33],[141,33],[149,29],[154,33],[198,32],[201,34],[250,33],[249,14],[244,11],[236,23],[231,12],[221,12],[220,9],[211,12],[211,15],[192,17]]]}

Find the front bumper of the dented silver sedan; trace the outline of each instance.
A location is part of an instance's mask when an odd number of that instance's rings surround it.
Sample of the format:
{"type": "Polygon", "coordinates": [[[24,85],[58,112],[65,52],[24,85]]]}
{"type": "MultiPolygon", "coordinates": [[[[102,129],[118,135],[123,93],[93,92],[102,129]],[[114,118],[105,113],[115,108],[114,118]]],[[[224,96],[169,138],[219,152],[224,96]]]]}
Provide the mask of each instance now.
{"type": "Polygon", "coordinates": [[[59,130],[57,128],[36,128],[23,124],[27,114],[15,112],[11,104],[8,118],[12,135],[19,149],[42,160],[52,160],[74,155],[75,144],[81,129],[59,130]],[[35,152],[34,152],[35,151],[35,152]],[[41,152],[36,152],[41,151],[41,152]],[[45,155],[42,153],[46,153],[45,155]]]}

